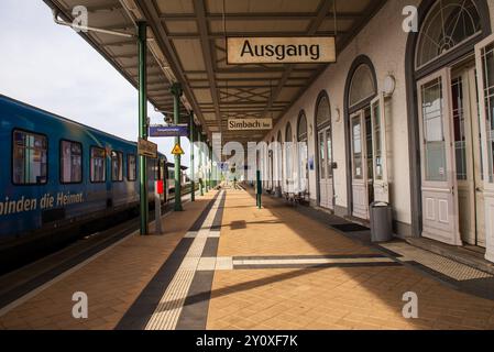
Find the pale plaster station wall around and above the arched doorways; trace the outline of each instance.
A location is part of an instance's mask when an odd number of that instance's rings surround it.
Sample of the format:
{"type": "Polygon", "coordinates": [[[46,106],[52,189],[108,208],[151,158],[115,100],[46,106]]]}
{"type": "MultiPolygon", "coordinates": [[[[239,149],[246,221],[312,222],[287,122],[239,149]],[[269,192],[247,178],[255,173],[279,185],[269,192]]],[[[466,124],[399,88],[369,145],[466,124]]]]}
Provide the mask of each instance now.
{"type": "MultiPolygon", "coordinates": [[[[332,138],[334,162],[336,212],[347,215],[349,196],[347,191],[347,141],[344,136],[344,87],[353,61],[360,55],[366,55],[373,63],[377,89],[383,90],[383,81],[387,75],[396,79],[396,90],[386,103],[388,111],[386,136],[388,144],[388,176],[391,202],[394,209],[394,219],[402,224],[400,229],[408,235],[410,216],[410,178],[408,157],[408,129],[406,109],[406,80],[405,80],[405,52],[408,33],[402,29],[404,7],[417,6],[418,0],[387,1],[378,13],[365,25],[360,34],[341,52],[338,62],[330,65],[326,72],[307,89],[295,102],[293,108],[278,121],[272,133],[266,136],[271,141],[287,122],[297,125],[300,110],[304,110],[308,120],[309,157],[316,155],[316,100],[321,90],[326,90],[331,105],[332,138]],[[337,118],[339,111],[339,119],[337,118]]],[[[296,134],[296,129],[294,129],[296,134]]],[[[294,135],[295,138],[295,135],[294,135]]],[[[317,161],[317,158],[315,158],[317,161]]],[[[316,167],[317,168],[317,165],[316,167]]],[[[309,172],[309,188],[311,202],[316,202],[316,170],[309,172]]]]}

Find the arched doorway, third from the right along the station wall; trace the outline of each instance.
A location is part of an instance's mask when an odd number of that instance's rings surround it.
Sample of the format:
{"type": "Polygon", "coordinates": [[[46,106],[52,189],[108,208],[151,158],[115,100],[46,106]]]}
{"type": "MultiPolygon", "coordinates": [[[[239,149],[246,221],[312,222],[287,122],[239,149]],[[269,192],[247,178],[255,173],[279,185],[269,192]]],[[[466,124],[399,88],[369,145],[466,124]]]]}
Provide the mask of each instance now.
{"type": "Polygon", "coordinates": [[[317,99],[315,120],[318,204],[322,208],[334,210],[331,107],[326,91],[321,91],[317,99]]]}

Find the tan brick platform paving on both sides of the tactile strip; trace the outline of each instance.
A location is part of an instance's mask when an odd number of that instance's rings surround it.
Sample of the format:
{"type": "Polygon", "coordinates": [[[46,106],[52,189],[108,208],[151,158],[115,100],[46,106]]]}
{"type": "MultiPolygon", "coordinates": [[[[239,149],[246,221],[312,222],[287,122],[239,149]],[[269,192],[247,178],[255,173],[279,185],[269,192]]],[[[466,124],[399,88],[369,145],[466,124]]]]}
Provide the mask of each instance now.
{"type": "MultiPolygon", "coordinates": [[[[266,198],[264,205],[257,210],[252,193],[228,190],[219,258],[204,258],[202,264],[210,267],[233,256],[351,258],[376,253],[277,200],[266,198]]],[[[113,329],[206,204],[186,206],[187,215],[166,219],[166,235],[130,238],[0,317],[0,328],[113,329]],[[83,289],[89,295],[90,319],[79,323],[72,318],[72,294],[83,289]]],[[[408,266],[224,270],[218,265],[207,314],[208,329],[226,330],[494,329],[494,301],[452,289],[408,266]],[[402,316],[406,292],[418,295],[419,319],[402,316]]]]}

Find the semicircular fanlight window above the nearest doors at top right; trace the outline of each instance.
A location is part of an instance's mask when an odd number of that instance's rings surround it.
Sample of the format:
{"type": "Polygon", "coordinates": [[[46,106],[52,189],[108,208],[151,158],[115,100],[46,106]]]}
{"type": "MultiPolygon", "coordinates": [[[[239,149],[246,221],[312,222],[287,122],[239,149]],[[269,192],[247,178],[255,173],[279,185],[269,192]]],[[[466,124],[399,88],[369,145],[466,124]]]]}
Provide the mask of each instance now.
{"type": "Polygon", "coordinates": [[[482,21],[472,0],[439,0],[420,30],[416,67],[421,67],[482,32],[482,21]]]}

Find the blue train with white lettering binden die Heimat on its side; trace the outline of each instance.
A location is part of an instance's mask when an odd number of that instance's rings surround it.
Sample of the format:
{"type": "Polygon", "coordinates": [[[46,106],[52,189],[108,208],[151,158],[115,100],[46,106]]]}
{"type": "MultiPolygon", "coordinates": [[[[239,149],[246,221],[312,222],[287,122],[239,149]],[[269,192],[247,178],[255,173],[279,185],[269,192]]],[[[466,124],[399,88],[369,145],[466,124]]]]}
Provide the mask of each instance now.
{"type": "MultiPolygon", "coordinates": [[[[36,244],[36,251],[75,235],[88,222],[135,215],[136,148],[136,143],[0,95],[0,260],[24,244],[36,244]]],[[[171,166],[162,154],[147,161],[153,201],[154,180],[166,180],[171,166]]]]}

